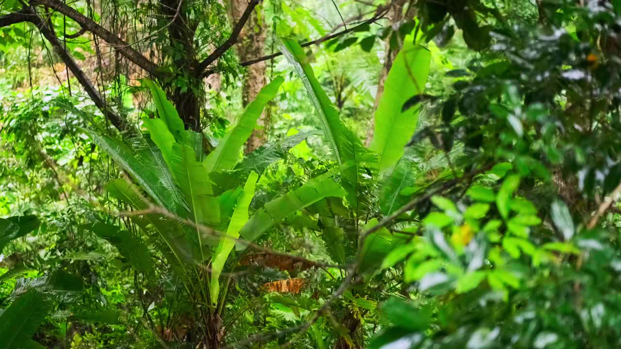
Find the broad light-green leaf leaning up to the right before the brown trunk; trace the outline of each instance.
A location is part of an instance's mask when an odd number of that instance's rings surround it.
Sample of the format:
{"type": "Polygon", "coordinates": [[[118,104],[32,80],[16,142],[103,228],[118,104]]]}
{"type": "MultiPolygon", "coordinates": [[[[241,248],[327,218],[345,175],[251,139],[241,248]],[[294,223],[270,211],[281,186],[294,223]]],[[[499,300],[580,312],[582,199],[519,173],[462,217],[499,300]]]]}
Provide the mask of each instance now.
{"type": "Polygon", "coordinates": [[[237,125],[222,138],[218,146],[213,152],[207,155],[205,160],[207,171],[232,170],[239,158],[240,150],[243,144],[252,135],[255,129],[256,120],[261,116],[263,108],[278,93],[278,88],[283,84],[284,79],[278,76],[271,83],[263,86],[261,91],[256,95],[254,101],[250,102],[240,117],[237,125]]]}

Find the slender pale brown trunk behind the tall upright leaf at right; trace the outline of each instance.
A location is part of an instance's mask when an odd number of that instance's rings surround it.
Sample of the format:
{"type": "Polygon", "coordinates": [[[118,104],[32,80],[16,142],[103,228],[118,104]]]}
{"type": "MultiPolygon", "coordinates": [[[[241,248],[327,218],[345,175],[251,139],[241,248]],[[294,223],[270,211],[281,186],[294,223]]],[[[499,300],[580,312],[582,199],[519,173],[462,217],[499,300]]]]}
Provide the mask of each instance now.
{"type": "MultiPolygon", "coordinates": [[[[388,19],[390,20],[389,25],[391,27],[401,22],[401,20],[404,19],[403,10],[406,5],[406,2],[407,0],[397,0],[392,3],[391,5],[392,8],[388,12],[388,14],[386,14],[388,19]]],[[[413,11],[413,9],[414,9],[414,6],[410,6],[409,12],[413,11]]],[[[382,93],[384,92],[384,82],[386,81],[386,76],[388,76],[388,71],[390,70],[392,66],[392,62],[394,61],[394,58],[397,57],[397,53],[399,53],[399,50],[401,49],[401,47],[391,48],[391,45],[390,45],[391,36],[392,34],[388,35],[388,37],[384,39],[384,47],[386,50],[384,54],[384,66],[382,67],[382,70],[379,72],[378,92],[375,94],[375,104],[373,105],[373,111],[378,109],[379,98],[382,96],[382,93]]],[[[366,147],[368,147],[369,144],[371,144],[371,140],[373,139],[373,132],[375,129],[374,126],[375,126],[375,119],[371,117],[371,122],[366,131],[366,140],[365,140],[366,147]]]]}

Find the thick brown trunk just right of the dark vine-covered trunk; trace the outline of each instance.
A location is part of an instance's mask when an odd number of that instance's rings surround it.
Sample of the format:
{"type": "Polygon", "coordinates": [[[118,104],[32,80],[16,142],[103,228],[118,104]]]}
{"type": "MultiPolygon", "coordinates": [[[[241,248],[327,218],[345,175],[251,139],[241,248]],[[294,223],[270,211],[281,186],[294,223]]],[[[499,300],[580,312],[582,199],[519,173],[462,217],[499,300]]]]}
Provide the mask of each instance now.
{"type": "MultiPolygon", "coordinates": [[[[231,22],[237,23],[248,6],[247,0],[230,0],[229,16],[231,22]]],[[[240,32],[238,44],[235,46],[240,61],[252,60],[263,55],[265,47],[265,28],[259,23],[256,12],[253,12],[247,24],[240,32]]],[[[242,105],[245,107],[252,102],[261,88],[265,85],[265,62],[248,66],[243,77],[242,105]]],[[[255,130],[246,142],[245,152],[251,153],[265,143],[270,117],[264,111],[256,122],[255,130]]]]}

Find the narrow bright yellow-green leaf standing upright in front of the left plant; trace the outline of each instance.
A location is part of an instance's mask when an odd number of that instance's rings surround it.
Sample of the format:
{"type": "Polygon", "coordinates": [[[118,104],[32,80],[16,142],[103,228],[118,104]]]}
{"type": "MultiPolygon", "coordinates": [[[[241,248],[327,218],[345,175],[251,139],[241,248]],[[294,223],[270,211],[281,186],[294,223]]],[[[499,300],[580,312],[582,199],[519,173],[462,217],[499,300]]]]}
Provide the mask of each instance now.
{"type": "Polygon", "coordinates": [[[235,239],[239,237],[240,229],[242,229],[243,225],[248,222],[248,206],[250,206],[250,202],[255,196],[256,181],[258,178],[259,175],[255,172],[250,173],[250,176],[248,176],[246,185],[243,186],[242,196],[237,201],[235,211],[233,211],[233,215],[229,223],[229,229],[227,229],[225,236],[220,237],[218,247],[215,248],[215,252],[211,260],[211,283],[209,285],[209,295],[211,296],[211,301],[214,304],[217,303],[220,293],[219,278],[220,273],[222,273],[222,269],[224,268],[224,263],[226,263],[230,252],[235,246],[235,239]]]}

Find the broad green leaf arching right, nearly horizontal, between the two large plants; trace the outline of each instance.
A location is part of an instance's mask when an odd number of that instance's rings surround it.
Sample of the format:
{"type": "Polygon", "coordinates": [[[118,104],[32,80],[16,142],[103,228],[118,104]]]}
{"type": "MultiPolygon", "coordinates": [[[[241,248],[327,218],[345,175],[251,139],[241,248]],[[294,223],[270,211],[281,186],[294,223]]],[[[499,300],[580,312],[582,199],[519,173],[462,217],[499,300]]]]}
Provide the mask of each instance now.
{"type": "MultiPolygon", "coordinates": [[[[314,204],[325,197],[345,196],[347,193],[332,179],[332,176],[338,172],[340,172],[340,168],[320,174],[294,191],[266,203],[243,226],[240,230],[240,236],[245,240],[254,241],[274,224],[278,224],[299,209],[314,204]]],[[[245,247],[243,244],[237,244],[238,250],[243,250],[245,247]]]]}

